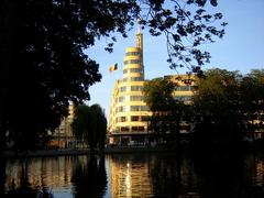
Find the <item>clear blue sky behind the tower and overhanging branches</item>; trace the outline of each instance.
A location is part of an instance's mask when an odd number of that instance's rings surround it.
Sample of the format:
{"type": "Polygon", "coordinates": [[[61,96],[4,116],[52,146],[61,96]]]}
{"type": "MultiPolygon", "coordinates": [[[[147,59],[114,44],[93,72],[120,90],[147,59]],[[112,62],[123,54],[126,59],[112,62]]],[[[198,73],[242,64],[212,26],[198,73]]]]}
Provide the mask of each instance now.
{"type": "MultiPolygon", "coordinates": [[[[204,68],[219,67],[228,70],[240,70],[248,74],[253,68],[264,68],[264,0],[219,0],[212,12],[222,12],[228,22],[226,35],[216,43],[204,46],[211,53],[211,61],[204,68]]],[[[99,103],[109,116],[111,91],[114,81],[122,78],[124,51],[128,46],[135,45],[135,32],[132,30],[128,38],[118,37],[113,53],[105,51],[107,38],[96,42],[87,51],[90,58],[100,64],[102,79],[89,88],[91,100],[88,105],[99,103]],[[109,66],[118,63],[119,69],[109,73],[109,66]]],[[[174,75],[175,70],[168,68],[166,43],[163,36],[152,37],[147,30],[144,36],[144,66],[145,78],[164,75],[174,75]]],[[[185,74],[186,69],[178,70],[185,74]]]]}

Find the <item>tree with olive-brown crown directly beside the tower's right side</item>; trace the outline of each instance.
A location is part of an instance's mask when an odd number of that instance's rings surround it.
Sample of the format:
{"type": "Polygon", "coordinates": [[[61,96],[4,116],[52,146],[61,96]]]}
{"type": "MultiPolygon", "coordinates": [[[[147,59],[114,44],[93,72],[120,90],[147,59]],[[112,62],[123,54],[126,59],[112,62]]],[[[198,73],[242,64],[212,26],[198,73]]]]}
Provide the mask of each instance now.
{"type": "Polygon", "coordinates": [[[183,101],[174,98],[174,91],[177,84],[167,78],[156,78],[144,84],[143,92],[144,100],[152,111],[150,118],[151,128],[156,138],[163,136],[166,139],[167,132],[170,138],[167,142],[173,142],[179,145],[179,124],[185,114],[183,101]]]}

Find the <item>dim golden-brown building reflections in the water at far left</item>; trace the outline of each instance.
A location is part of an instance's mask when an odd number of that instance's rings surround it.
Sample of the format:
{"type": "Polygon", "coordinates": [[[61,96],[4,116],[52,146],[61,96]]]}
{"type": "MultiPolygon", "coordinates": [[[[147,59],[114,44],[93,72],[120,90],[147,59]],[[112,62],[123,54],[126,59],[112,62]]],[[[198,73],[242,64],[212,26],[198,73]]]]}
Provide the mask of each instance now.
{"type": "MultiPolygon", "coordinates": [[[[21,187],[23,179],[29,182],[30,187],[69,187],[73,175],[70,160],[69,156],[65,156],[9,162],[6,168],[6,189],[21,187]]],[[[81,158],[78,157],[78,160],[81,158]]],[[[81,163],[86,161],[82,160],[81,163]]]]}

